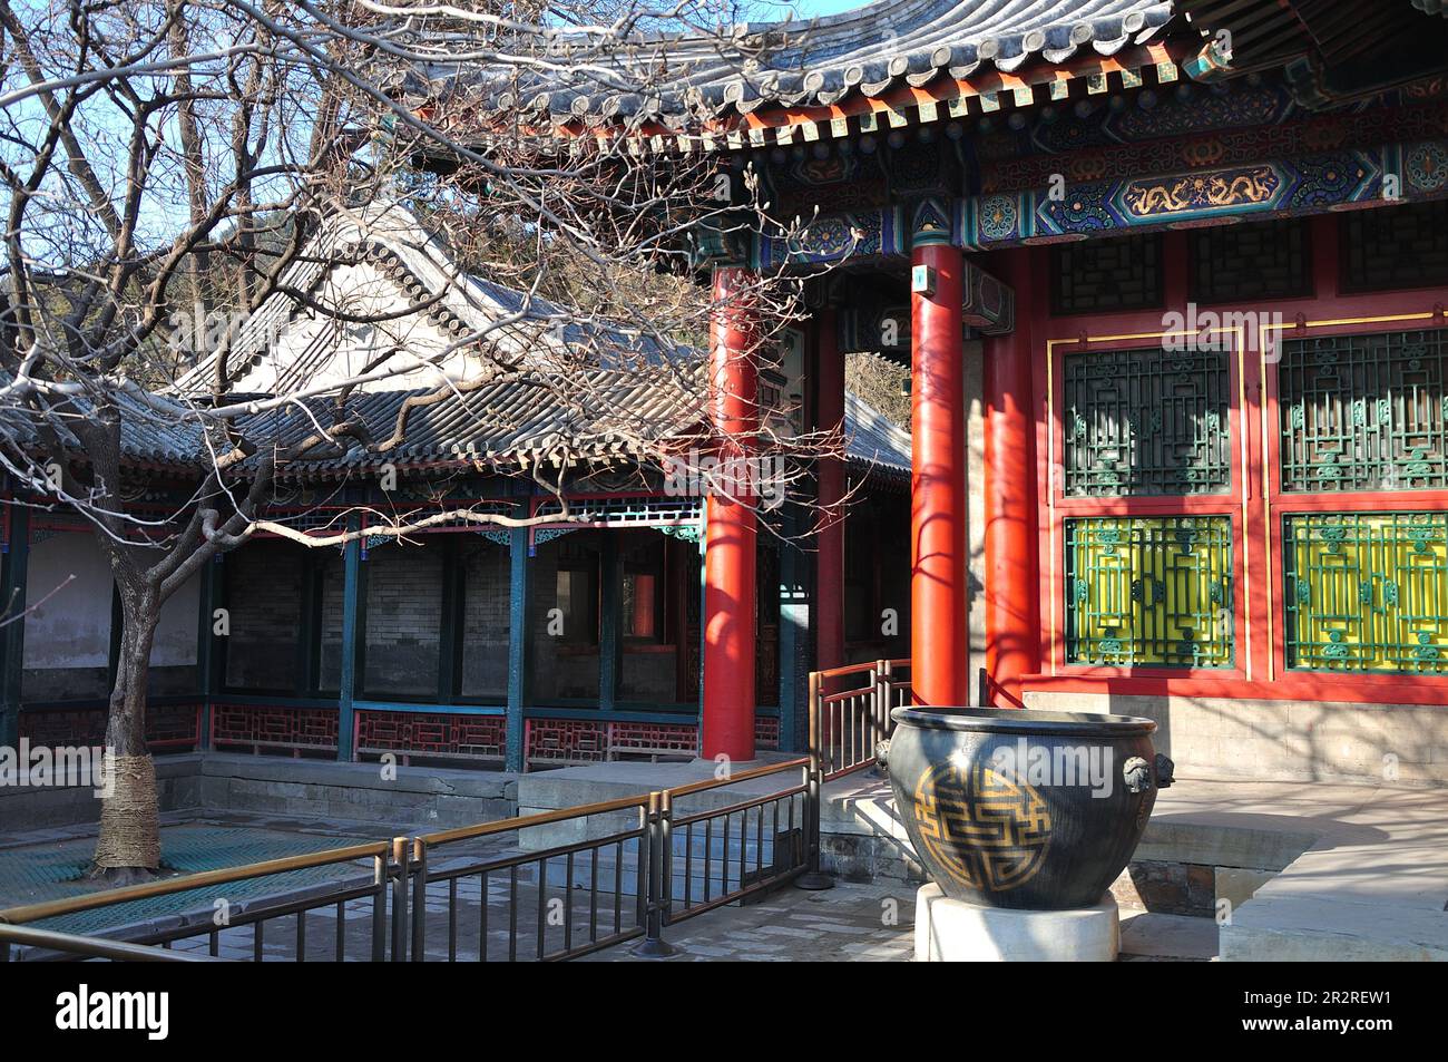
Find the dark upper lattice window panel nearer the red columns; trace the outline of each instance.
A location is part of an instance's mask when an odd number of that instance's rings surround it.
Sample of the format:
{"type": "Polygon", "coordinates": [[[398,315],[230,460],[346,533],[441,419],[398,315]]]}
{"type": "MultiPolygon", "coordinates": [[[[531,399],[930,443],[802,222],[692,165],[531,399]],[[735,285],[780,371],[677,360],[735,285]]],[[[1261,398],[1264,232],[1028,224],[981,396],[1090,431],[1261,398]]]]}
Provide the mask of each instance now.
{"type": "Polygon", "coordinates": [[[1225,351],[1069,354],[1063,372],[1069,497],[1231,488],[1225,351]]]}

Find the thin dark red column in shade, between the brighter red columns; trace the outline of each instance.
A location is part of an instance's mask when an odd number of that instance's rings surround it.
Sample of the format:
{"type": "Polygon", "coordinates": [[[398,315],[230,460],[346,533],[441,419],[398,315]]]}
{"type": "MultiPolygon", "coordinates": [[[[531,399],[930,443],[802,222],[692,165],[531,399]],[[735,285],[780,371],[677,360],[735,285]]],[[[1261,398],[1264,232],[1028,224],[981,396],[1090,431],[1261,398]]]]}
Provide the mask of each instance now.
{"type": "MultiPolygon", "coordinates": [[[[844,355],[834,310],[814,319],[815,427],[844,438],[844,355]]],[[[844,665],[844,461],[820,458],[820,511],[830,523],[815,540],[815,668],[844,665]]]]}

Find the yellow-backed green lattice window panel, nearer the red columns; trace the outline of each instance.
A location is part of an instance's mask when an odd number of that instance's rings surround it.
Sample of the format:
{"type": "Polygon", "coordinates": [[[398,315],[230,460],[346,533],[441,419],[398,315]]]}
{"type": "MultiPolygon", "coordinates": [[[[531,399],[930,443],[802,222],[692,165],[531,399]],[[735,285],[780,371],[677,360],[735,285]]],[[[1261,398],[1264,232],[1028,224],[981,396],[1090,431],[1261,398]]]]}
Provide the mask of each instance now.
{"type": "Polygon", "coordinates": [[[1064,524],[1069,664],[1232,666],[1229,517],[1064,524]]]}

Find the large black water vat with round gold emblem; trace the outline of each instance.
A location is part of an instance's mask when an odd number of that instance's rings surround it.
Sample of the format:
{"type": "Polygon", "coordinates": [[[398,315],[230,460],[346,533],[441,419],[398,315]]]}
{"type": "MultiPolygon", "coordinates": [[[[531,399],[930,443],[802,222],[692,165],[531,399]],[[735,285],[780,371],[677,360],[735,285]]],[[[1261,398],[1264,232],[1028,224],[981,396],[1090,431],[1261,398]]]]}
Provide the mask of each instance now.
{"type": "Polygon", "coordinates": [[[1134,716],[895,708],[895,807],[946,895],[992,907],[1092,907],[1141,840],[1171,761],[1134,716]]]}

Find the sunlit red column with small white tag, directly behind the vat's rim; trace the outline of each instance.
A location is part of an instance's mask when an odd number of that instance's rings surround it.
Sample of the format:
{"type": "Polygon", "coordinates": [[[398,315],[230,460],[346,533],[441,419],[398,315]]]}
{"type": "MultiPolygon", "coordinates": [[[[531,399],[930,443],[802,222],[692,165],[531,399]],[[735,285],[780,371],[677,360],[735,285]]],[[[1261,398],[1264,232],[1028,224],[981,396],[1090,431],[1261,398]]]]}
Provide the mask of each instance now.
{"type": "Polygon", "coordinates": [[[911,265],[911,684],[919,704],[969,704],[964,259],[927,242],[911,265]]]}

